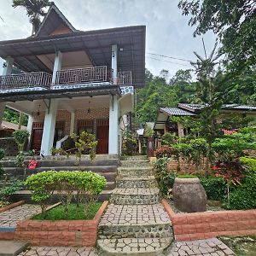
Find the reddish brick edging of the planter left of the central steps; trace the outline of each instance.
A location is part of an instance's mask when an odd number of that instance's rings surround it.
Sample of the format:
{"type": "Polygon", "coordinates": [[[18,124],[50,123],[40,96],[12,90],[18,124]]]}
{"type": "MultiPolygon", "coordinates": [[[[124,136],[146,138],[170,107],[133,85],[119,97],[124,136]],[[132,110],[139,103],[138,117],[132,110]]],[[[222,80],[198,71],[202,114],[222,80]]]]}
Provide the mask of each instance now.
{"type": "Polygon", "coordinates": [[[108,206],[104,201],[91,220],[23,220],[17,224],[15,240],[29,241],[32,246],[93,247],[97,228],[108,206]]]}

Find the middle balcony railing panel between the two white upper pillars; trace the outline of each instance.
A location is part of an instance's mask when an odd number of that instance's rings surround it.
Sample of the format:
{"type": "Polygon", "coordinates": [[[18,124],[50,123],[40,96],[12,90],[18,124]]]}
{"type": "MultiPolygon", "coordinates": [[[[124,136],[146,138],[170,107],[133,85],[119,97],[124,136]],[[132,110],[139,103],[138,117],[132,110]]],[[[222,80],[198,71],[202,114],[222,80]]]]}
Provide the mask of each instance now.
{"type": "Polygon", "coordinates": [[[108,80],[107,66],[87,67],[58,71],[55,84],[101,83],[108,80]]]}

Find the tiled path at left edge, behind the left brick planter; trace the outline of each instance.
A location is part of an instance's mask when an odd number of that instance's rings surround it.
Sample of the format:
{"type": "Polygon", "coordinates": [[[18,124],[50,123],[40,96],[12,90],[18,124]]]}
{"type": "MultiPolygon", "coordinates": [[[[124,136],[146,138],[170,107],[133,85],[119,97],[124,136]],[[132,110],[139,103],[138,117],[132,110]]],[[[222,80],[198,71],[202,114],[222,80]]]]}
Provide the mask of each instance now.
{"type": "Polygon", "coordinates": [[[6,212],[0,212],[0,227],[16,227],[20,220],[30,218],[32,215],[41,212],[36,205],[24,204],[6,212]]]}

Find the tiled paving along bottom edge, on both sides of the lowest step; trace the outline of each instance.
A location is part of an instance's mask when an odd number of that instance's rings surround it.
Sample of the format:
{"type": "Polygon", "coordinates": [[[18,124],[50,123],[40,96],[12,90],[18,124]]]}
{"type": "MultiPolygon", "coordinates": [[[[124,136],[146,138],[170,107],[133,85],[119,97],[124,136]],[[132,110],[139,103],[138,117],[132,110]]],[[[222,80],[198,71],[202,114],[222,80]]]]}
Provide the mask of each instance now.
{"type": "MultiPolygon", "coordinates": [[[[32,247],[19,256],[96,256],[95,248],[81,247],[32,247]]],[[[164,255],[164,254],[161,254],[164,255]]],[[[229,247],[217,238],[198,241],[177,241],[167,256],[224,256],[235,255],[229,247]]]]}

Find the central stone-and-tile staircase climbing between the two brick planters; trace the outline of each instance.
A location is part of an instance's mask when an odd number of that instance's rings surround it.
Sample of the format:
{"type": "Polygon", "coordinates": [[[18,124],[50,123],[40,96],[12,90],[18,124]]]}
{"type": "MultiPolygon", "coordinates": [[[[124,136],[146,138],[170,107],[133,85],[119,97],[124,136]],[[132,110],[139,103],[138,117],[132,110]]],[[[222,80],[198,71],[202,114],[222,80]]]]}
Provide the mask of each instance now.
{"type": "Polygon", "coordinates": [[[116,185],[98,228],[99,255],[163,255],[172,223],[146,156],[121,160],[116,185]]]}

